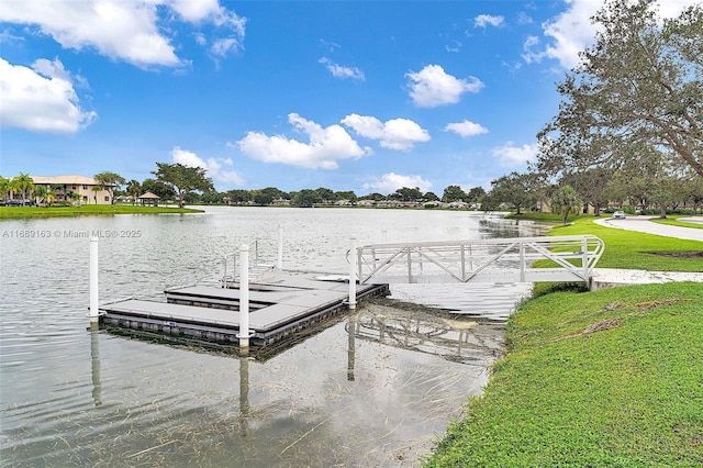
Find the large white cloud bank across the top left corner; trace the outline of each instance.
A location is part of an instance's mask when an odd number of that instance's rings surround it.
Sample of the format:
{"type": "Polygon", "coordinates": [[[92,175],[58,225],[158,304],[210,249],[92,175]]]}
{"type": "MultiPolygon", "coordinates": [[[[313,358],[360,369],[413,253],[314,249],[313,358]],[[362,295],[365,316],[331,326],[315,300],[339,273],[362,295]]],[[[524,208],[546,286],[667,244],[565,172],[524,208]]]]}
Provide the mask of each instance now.
{"type": "MultiPolygon", "coordinates": [[[[238,49],[244,40],[246,19],[220,7],[216,0],[32,0],[10,1],[0,9],[0,21],[37,25],[64,48],[96,49],[100,54],[140,67],[179,67],[186,60],[176,55],[163,22],[172,15],[189,23],[208,22],[214,33],[226,37],[210,41],[212,54],[238,49]]],[[[197,36],[202,43],[204,35],[197,36]]]]}

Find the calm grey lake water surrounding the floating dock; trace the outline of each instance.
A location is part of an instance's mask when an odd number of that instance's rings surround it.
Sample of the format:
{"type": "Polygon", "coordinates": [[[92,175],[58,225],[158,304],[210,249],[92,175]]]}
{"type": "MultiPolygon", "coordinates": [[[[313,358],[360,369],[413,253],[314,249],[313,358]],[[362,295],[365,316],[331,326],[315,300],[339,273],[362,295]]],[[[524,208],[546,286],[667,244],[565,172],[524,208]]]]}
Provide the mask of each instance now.
{"type": "Polygon", "coordinates": [[[482,213],[355,209],[1,221],[2,466],[417,466],[480,392],[502,352],[496,320],[525,285],[392,286],[389,299],[248,358],[89,330],[91,232],[103,234],[105,302],[214,285],[222,257],[257,238],[274,259],[279,225],[284,268],[339,272],[352,236],[365,245],[547,229],[482,213]]]}

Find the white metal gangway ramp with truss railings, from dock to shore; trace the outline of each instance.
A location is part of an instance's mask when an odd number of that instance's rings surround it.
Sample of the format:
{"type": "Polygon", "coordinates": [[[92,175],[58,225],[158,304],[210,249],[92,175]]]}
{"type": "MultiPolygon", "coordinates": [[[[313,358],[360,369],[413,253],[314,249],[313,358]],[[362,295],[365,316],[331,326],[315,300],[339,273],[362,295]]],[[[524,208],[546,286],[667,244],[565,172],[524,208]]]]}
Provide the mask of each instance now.
{"type": "Polygon", "coordinates": [[[589,286],[604,247],[596,236],[576,235],[375,244],[356,252],[360,283],[583,281],[589,286]]]}

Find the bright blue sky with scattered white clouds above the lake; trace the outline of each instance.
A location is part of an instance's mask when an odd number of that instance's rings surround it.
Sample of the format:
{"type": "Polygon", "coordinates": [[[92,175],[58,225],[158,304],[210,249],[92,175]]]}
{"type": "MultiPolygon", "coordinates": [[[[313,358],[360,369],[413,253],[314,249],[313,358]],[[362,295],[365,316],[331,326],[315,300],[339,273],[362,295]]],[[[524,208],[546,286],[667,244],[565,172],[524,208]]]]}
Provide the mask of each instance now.
{"type": "Polygon", "coordinates": [[[3,0],[0,174],[489,189],[534,159],[601,4],[3,0]]]}

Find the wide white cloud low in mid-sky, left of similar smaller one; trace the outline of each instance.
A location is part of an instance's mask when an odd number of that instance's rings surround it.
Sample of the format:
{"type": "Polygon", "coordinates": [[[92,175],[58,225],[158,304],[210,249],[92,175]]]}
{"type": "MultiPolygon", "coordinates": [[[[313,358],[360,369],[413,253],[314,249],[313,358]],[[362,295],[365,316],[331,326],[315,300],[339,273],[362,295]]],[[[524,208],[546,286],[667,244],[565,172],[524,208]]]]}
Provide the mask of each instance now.
{"type": "Polygon", "coordinates": [[[371,153],[370,148],[361,148],[341,125],[323,129],[297,113],[288,114],[288,121],[297,131],[308,135],[308,143],[283,135],[268,136],[261,132],[248,132],[237,142],[239,151],[264,163],[322,169],[336,169],[337,159],[360,158],[371,153]]]}

